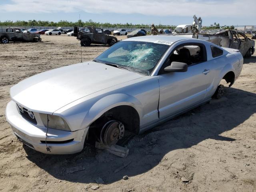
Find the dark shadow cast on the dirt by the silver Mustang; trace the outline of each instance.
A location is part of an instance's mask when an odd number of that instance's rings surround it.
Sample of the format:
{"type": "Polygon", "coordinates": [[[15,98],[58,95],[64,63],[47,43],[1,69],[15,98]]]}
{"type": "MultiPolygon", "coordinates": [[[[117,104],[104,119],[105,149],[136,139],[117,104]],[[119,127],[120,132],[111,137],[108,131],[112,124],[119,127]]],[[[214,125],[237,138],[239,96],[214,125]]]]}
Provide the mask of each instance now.
{"type": "Polygon", "coordinates": [[[127,144],[130,149],[127,158],[119,158],[90,146],[72,155],[42,154],[27,146],[24,149],[28,160],[55,178],[94,183],[100,177],[105,184],[116,182],[124,175],[136,176],[148,172],[173,150],[190,148],[209,138],[234,141],[234,138],[220,134],[232,130],[256,113],[256,94],[236,88],[225,90],[224,100],[212,100],[132,138],[127,144]]]}

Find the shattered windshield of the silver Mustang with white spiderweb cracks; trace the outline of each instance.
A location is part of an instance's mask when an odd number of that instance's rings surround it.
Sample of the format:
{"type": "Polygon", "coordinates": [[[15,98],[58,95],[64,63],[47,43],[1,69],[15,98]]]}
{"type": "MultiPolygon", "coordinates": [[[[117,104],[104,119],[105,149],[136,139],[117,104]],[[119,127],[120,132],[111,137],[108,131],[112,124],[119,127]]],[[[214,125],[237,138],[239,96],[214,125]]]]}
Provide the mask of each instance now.
{"type": "Polygon", "coordinates": [[[94,61],[115,64],[150,75],[169,47],[170,45],[152,42],[121,41],[100,54],[94,61]]]}

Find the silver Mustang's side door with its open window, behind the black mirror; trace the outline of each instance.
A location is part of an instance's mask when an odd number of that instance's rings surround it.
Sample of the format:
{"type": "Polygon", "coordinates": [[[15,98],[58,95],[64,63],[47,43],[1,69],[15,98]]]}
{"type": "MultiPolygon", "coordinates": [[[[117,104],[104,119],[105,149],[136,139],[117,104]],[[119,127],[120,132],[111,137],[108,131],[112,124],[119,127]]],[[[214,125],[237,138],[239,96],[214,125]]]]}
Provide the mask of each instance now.
{"type": "MultiPolygon", "coordinates": [[[[176,51],[178,49],[174,48],[174,52],[169,57],[170,60],[167,59],[158,75],[160,119],[176,115],[203,102],[207,87],[210,86],[211,81],[208,75],[210,69],[205,46],[203,44],[189,44],[189,46],[191,46],[189,49],[190,59],[187,62],[183,61],[188,63],[186,72],[164,72],[164,68],[170,65],[172,61],[178,61],[179,57],[184,58],[181,55],[179,56],[176,51]],[[193,46],[195,48],[199,47],[200,50],[193,51],[193,46]]],[[[182,47],[187,48],[188,46],[182,45],[182,47]]]]}

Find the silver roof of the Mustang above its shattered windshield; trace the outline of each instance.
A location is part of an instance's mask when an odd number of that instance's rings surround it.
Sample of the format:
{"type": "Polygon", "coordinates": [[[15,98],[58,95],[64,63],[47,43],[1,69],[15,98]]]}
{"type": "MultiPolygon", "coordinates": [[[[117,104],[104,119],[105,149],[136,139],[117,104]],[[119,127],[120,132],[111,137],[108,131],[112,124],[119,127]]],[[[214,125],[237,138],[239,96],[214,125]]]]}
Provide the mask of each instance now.
{"type": "Polygon", "coordinates": [[[123,41],[144,41],[144,42],[156,42],[156,41],[165,41],[165,42],[176,42],[180,40],[185,40],[185,39],[191,39],[191,37],[188,36],[183,36],[183,35],[147,35],[147,36],[139,36],[139,37],[133,37],[133,38],[128,38],[123,41]]]}

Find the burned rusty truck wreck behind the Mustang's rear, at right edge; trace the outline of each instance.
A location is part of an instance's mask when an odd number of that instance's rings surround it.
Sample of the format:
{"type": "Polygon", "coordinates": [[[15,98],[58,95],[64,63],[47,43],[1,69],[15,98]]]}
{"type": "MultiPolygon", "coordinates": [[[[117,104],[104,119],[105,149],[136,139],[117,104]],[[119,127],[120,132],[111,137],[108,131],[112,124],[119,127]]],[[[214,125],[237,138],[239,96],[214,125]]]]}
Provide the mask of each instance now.
{"type": "Polygon", "coordinates": [[[250,57],[255,51],[255,42],[248,38],[243,32],[235,30],[222,30],[215,34],[193,34],[193,38],[198,38],[214,42],[218,46],[238,49],[243,57],[250,57]]]}

